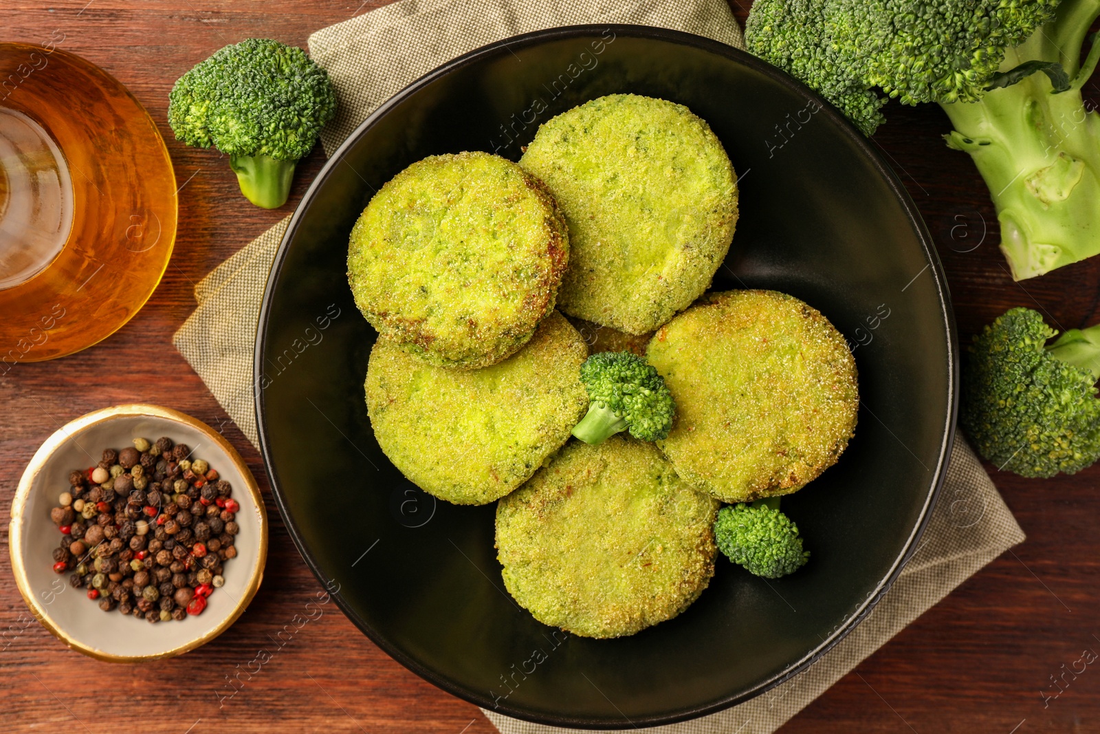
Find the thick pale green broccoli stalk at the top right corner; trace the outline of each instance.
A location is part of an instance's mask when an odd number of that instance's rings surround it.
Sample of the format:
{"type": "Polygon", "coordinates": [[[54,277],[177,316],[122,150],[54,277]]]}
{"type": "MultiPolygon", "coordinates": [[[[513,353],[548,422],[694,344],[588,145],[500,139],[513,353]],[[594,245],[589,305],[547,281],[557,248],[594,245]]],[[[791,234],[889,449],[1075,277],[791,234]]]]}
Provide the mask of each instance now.
{"type": "Polygon", "coordinates": [[[1049,23],[1010,48],[1001,70],[1030,61],[1059,62],[1071,78],[1052,94],[1044,74],[986,94],[980,102],[941,105],[986,179],[1001,222],[1001,250],[1016,281],[1100,254],[1100,114],[1086,109],[1081,86],[1100,58],[1081,45],[1100,0],[1066,0],[1049,23]]]}

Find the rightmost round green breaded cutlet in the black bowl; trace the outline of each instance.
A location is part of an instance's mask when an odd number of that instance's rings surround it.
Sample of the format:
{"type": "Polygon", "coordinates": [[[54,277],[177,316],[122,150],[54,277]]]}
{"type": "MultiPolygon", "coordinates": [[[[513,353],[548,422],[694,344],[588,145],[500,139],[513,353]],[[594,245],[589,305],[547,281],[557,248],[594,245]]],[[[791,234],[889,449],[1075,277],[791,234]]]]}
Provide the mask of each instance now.
{"type": "Polygon", "coordinates": [[[836,463],[856,427],[856,361],[822,314],[774,291],[710,294],[647,352],[676,401],[659,441],[724,502],[789,494],[836,463]]]}

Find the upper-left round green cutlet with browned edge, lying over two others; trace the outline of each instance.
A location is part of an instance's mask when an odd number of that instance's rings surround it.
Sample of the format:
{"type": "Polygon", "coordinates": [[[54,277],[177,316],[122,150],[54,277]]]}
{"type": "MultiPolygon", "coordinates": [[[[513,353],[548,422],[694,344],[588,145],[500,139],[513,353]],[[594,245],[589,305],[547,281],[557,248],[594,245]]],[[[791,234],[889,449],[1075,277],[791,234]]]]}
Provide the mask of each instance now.
{"type": "Polygon", "coordinates": [[[431,364],[477,368],[522,347],[553,310],[569,234],[546,187],[488,153],[397,174],[352,229],[348,278],[378,332],[431,364]]]}

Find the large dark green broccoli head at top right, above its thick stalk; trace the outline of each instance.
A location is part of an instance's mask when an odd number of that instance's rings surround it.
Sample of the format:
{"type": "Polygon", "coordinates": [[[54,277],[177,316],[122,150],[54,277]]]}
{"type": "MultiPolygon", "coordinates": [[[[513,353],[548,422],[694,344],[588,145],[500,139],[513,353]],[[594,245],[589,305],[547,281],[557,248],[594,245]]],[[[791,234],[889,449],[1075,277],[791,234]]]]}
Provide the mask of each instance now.
{"type": "MultiPolygon", "coordinates": [[[[1058,0],[757,0],[750,52],[821,92],[866,134],[877,88],[906,105],[975,101],[1005,52],[1050,20],[1058,0]]],[[[1036,69],[1032,69],[1036,70],[1036,69]]]]}

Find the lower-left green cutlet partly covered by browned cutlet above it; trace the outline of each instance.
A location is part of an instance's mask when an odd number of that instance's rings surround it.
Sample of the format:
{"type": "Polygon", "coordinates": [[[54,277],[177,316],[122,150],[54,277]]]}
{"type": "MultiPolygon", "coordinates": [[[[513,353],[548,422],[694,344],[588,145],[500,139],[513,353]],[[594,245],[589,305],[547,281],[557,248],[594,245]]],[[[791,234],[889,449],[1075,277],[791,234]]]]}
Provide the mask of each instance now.
{"type": "Polygon", "coordinates": [[[485,504],[535,473],[588,407],[584,341],[551,314],[516,354],[480,370],[427,364],[380,338],[366,373],[378,446],[410,481],[455,504],[485,504]]]}

